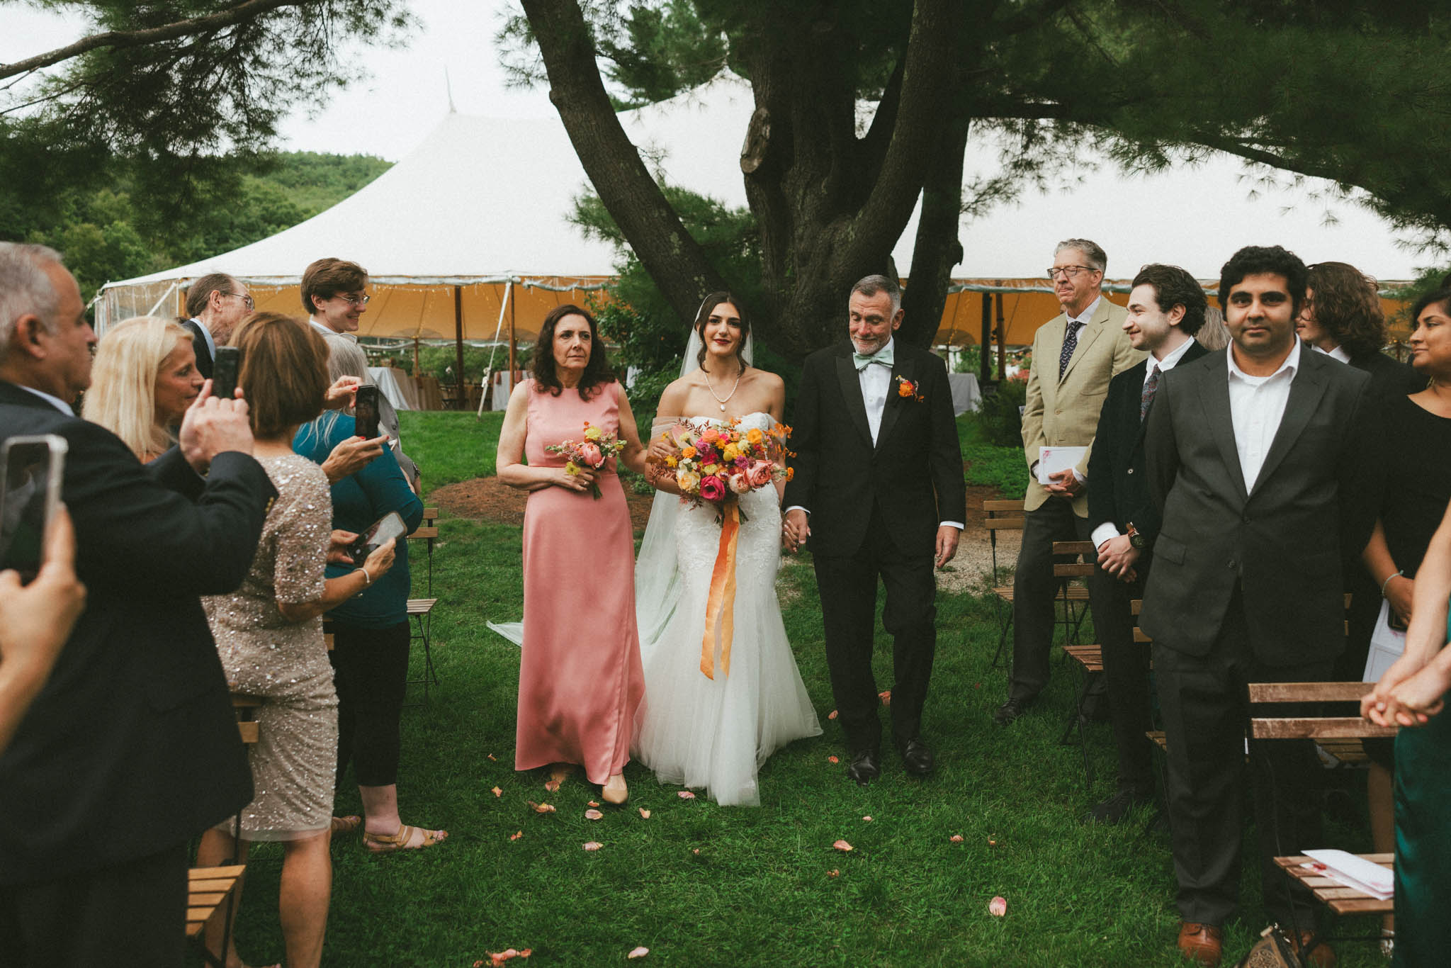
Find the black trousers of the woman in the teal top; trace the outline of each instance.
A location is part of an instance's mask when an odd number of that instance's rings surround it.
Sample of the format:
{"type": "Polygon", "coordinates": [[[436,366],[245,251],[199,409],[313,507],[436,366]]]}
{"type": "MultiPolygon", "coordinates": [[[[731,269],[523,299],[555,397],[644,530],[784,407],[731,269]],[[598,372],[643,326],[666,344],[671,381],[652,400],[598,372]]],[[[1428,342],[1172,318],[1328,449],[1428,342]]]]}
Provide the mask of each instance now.
{"type": "Polygon", "coordinates": [[[408,620],[386,628],[332,621],[338,689],[338,782],[353,763],[360,787],[398,782],[398,723],[408,689],[408,620]]]}

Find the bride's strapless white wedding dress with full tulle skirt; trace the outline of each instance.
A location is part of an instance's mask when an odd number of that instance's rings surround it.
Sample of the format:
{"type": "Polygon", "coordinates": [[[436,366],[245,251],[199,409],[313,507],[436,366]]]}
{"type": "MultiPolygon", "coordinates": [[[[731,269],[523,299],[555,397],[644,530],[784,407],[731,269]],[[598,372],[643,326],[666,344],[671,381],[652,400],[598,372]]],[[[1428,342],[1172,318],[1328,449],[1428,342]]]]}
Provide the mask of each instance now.
{"type": "MultiPolygon", "coordinates": [[[[718,422],[696,417],[692,424],[718,422]]],[[[769,414],[740,427],[769,430],[769,414]]],[[[656,495],[656,512],[636,569],[636,611],[644,662],[644,704],[636,718],[634,756],[660,782],[705,788],[721,805],[760,804],[756,771],[786,743],[820,736],[821,724],[801,682],[776,601],[781,506],[772,486],[741,495],[736,553],[734,636],[730,672],[717,649],[714,673],[701,672],[707,598],[720,549],[715,508],[691,508],[656,495]],[[673,506],[670,506],[673,505],[673,506]]]]}

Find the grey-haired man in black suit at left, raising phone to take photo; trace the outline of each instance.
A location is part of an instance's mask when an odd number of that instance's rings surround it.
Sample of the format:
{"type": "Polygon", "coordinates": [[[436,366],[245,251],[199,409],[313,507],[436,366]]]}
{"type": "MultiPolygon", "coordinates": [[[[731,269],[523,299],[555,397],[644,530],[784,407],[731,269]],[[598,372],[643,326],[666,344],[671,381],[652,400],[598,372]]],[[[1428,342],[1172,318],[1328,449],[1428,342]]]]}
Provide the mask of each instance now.
{"type": "Polygon", "coordinates": [[[197,596],[241,583],[277,492],[241,401],[203,392],[145,467],[74,417],[96,335],[57,253],[0,242],[0,427],[65,438],[87,588],[0,755],[0,964],[181,965],[186,843],[252,789],[197,596]]]}

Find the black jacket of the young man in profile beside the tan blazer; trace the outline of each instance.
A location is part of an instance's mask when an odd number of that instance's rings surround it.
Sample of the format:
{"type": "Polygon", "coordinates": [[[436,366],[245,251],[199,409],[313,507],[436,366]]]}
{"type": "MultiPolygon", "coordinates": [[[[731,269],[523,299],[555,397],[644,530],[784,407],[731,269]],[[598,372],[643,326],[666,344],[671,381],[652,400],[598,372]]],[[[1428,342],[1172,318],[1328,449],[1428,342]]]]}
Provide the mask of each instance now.
{"type": "MultiPolygon", "coordinates": [[[[1175,367],[1193,363],[1207,353],[1196,341],[1184,350],[1175,367]]],[[[1111,522],[1120,533],[1127,533],[1132,521],[1152,549],[1154,538],[1159,534],[1159,509],[1149,498],[1149,473],[1143,457],[1143,434],[1149,422],[1139,419],[1148,366],[1148,360],[1143,360],[1109,383],[1109,395],[1098,412],[1093,453],[1088,456],[1088,521],[1093,527],[1111,522]]],[[[1165,370],[1159,380],[1170,373],[1172,370],[1165,370]]],[[[1149,409],[1152,412],[1154,406],[1149,409]]]]}

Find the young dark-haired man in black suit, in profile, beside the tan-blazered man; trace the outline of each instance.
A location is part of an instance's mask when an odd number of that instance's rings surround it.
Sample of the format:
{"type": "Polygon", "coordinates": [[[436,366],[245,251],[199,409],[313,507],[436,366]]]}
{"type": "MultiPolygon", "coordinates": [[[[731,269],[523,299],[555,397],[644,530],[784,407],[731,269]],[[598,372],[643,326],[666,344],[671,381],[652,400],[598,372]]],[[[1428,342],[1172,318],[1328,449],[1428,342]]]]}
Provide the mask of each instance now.
{"type": "Polygon", "coordinates": [[[1154,800],[1154,762],[1145,733],[1149,724],[1149,650],[1133,641],[1135,598],[1154,560],[1159,512],[1149,499],[1143,430],[1159,380],[1181,363],[1209,353],[1194,341],[1204,325],[1204,289],[1178,266],[1145,266],[1133,279],[1123,331],[1130,345],[1149,357],[1113,377],[1088,459],[1088,522],[1104,583],[1094,630],[1103,643],[1109,682],[1109,721],[1119,756],[1119,784],[1085,820],[1116,824],[1129,810],[1154,800]]]}

